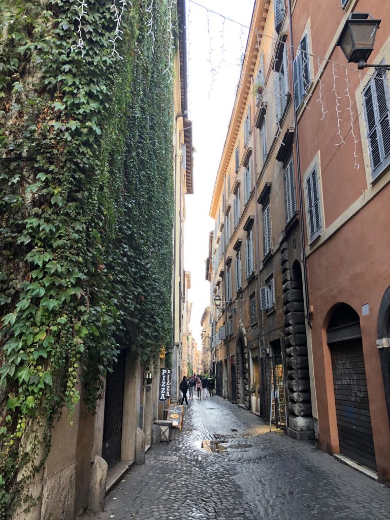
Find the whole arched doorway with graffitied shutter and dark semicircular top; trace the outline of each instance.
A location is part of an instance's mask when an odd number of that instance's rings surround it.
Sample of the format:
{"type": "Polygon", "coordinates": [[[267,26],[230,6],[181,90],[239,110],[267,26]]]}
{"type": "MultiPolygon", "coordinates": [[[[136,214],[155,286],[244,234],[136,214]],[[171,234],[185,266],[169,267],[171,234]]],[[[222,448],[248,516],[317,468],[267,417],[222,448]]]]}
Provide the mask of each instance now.
{"type": "Polygon", "coordinates": [[[376,470],[366,369],[356,311],[336,306],[327,328],[340,453],[376,470]]]}

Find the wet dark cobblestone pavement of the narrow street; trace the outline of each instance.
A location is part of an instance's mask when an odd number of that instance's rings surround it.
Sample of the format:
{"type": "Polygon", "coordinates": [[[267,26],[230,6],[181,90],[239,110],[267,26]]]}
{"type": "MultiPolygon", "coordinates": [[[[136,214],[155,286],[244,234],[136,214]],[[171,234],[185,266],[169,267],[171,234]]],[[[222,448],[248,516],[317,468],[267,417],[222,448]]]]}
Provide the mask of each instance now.
{"type": "MultiPolygon", "coordinates": [[[[390,489],[214,396],[190,401],[183,430],[153,445],[82,520],[388,520],[390,489]],[[209,452],[205,440],[222,439],[209,452]]],[[[213,443],[211,443],[213,445],[213,443]]]]}

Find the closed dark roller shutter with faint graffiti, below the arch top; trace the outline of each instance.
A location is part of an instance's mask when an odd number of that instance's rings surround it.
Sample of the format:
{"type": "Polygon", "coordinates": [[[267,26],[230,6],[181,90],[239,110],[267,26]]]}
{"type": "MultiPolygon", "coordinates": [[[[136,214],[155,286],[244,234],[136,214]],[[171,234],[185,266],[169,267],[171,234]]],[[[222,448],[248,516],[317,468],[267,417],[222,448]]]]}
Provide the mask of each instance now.
{"type": "Polygon", "coordinates": [[[361,339],[331,345],[340,452],[376,470],[361,339]]]}

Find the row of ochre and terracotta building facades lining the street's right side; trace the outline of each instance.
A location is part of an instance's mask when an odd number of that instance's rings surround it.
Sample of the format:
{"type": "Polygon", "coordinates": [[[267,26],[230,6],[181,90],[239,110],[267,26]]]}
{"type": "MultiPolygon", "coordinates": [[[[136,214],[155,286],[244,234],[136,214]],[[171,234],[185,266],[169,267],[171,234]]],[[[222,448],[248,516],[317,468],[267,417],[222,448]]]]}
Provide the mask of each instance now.
{"type": "Polygon", "coordinates": [[[255,2],[210,209],[212,362],[219,395],[388,483],[390,94],[337,46],[353,12],[388,63],[379,0],[255,2]]]}

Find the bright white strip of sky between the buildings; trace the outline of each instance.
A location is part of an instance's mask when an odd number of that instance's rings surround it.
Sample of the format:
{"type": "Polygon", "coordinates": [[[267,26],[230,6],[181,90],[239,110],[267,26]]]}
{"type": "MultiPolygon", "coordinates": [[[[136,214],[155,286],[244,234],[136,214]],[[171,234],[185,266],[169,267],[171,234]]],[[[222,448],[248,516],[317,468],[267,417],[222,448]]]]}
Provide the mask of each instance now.
{"type": "MultiPolygon", "coordinates": [[[[246,26],[250,25],[254,0],[196,2],[246,26]]],[[[211,13],[208,23],[207,11],[190,0],[187,0],[187,11],[188,117],[193,123],[194,194],[186,196],[184,266],[191,272],[190,329],[198,348],[201,348],[200,320],[204,308],[210,304],[210,283],[205,280],[209,232],[214,229],[214,221],[209,217],[210,203],[236,96],[248,30],[242,30],[241,25],[229,20],[224,23],[223,18],[211,13]],[[210,27],[210,33],[207,27],[210,27]],[[216,70],[214,82],[213,68],[216,70]]]]}

